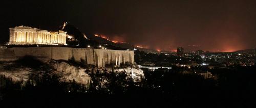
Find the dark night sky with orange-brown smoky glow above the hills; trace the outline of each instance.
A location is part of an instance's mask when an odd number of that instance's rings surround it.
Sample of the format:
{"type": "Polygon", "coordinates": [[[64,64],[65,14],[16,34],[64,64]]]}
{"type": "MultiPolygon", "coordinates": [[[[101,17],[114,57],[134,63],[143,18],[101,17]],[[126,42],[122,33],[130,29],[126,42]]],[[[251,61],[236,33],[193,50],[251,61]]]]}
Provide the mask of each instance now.
{"type": "Polygon", "coordinates": [[[253,1],[1,1],[0,9],[2,41],[14,26],[54,30],[68,21],[84,33],[154,49],[256,48],[253,1]]]}

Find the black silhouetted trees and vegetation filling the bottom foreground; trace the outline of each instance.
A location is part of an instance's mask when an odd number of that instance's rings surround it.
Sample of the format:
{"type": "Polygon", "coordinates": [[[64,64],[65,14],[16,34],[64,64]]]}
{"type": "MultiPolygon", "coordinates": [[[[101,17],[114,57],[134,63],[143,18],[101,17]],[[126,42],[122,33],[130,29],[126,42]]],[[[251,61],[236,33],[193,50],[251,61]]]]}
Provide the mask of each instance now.
{"type": "Polygon", "coordinates": [[[255,104],[255,66],[214,70],[217,80],[181,74],[179,68],[145,70],[145,79],[140,83],[133,83],[123,73],[96,71],[91,72],[92,83],[87,86],[74,81],[60,82],[50,67],[44,67],[35,68],[45,71],[31,74],[26,83],[13,83],[12,79],[0,76],[0,107],[253,107],[255,104]],[[101,85],[103,77],[109,83],[101,85]]]}

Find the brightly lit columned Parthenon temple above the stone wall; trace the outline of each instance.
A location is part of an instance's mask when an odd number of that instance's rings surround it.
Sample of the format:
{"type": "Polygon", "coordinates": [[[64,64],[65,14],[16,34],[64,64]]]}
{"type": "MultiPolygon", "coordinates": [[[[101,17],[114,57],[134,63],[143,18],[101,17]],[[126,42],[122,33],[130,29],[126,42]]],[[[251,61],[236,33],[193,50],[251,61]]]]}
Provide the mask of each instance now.
{"type": "Polygon", "coordinates": [[[8,44],[48,44],[48,45],[66,45],[67,32],[48,32],[31,28],[29,26],[16,26],[9,28],[10,41],[8,44]]]}

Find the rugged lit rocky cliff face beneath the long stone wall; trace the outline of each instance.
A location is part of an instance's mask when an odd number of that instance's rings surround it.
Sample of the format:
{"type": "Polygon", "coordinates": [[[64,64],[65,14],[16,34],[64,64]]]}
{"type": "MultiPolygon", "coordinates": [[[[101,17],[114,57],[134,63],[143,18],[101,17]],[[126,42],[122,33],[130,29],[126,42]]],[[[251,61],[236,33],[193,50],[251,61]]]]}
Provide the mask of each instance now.
{"type": "MultiPolygon", "coordinates": [[[[127,77],[133,77],[134,82],[140,82],[144,78],[143,71],[139,68],[127,66],[125,68],[97,68],[97,67],[82,67],[72,65],[65,61],[51,61],[49,64],[50,71],[60,76],[62,82],[72,82],[88,85],[91,83],[90,72],[125,72],[127,77]]],[[[33,69],[27,66],[17,66],[15,62],[1,62],[0,63],[0,75],[12,78],[14,82],[27,81],[29,75],[35,72],[44,72],[44,66],[40,66],[40,69],[33,69]],[[14,67],[13,67],[14,66],[14,67]]]]}

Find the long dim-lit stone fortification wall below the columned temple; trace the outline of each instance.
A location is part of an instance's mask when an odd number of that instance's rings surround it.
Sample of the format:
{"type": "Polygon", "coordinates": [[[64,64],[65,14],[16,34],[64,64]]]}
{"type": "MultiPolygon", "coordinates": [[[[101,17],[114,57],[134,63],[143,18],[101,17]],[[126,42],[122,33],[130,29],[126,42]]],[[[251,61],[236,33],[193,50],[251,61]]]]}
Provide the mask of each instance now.
{"type": "Polygon", "coordinates": [[[108,64],[134,63],[134,51],[70,47],[13,47],[0,49],[0,61],[13,61],[24,56],[40,61],[75,60],[84,64],[104,67],[108,64]]]}

